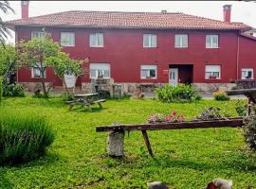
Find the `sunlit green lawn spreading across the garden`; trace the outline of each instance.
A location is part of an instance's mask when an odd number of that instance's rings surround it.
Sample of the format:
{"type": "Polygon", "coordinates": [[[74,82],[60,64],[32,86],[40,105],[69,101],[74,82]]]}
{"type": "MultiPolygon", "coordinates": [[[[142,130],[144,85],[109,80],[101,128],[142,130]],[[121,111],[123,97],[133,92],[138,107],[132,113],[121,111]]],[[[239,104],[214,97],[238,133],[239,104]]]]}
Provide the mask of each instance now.
{"type": "Polygon", "coordinates": [[[56,130],[46,156],[30,163],[0,167],[0,188],[146,188],[163,180],[171,188],[203,188],[214,178],[233,180],[234,189],[256,187],[256,157],[247,152],[241,129],[182,129],[149,131],[155,159],[148,156],[141,133],[125,135],[124,159],[106,156],[106,132],[96,126],[145,123],[154,112],[170,107],[188,119],[206,107],[236,115],[235,101],[201,100],[164,104],[154,100],[107,100],[93,112],[68,112],[60,98],[4,98],[3,106],[41,114],[56,130]]]}

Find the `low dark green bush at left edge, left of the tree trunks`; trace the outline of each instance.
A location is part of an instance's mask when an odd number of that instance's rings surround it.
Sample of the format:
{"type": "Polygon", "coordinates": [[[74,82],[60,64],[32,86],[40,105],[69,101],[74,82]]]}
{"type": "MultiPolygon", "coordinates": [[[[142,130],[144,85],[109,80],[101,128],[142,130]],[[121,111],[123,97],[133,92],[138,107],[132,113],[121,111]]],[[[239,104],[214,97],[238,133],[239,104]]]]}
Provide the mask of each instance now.
{"type": "Polygon", "coordinates": [[[9,97],[14,97],[14,96],[20,96],[24,97],[24,88],[22,85],[15,84],[15,83],[9,83],[8,81],[3,82],[3,96],[9,96],[9,97]]]}

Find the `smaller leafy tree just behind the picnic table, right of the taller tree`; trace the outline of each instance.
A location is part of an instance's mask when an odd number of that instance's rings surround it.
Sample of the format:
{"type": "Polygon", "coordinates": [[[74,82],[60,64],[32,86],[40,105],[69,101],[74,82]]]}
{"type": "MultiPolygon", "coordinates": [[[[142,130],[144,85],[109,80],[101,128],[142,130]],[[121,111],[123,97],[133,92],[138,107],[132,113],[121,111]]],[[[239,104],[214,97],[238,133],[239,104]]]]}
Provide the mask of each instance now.
{"type": "MultiPolygon", "coordinates": [[[[67,94],[69,94],[64,75],[74,75],[76,77],[76,83],[78,77],[84,76],[88,73],[88,70],[83,67],[83,63],[87,63],[88,61],[88,58],[85,60],[73,60],[68,54],[60,52],[58,56],[47,59],[47,64],[51,65],[55,74],[62,79],[65,91],[67,94]]],[[[74,90],[75,86],[73,88],[73,92],[74,90]]]]}

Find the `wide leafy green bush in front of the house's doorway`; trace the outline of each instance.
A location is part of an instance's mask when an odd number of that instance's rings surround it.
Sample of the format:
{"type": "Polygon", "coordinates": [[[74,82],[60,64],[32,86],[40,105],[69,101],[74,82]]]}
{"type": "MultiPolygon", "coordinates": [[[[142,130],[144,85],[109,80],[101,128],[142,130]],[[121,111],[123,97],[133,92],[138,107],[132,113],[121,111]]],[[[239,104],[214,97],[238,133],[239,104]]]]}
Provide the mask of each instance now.
{"type": "Polygon", "coordinates": [[[190,85],[178,84],[176,87],[165,85],[155,89],[158,100],[162,102],[188,102],[202,98],[190,85]]]}

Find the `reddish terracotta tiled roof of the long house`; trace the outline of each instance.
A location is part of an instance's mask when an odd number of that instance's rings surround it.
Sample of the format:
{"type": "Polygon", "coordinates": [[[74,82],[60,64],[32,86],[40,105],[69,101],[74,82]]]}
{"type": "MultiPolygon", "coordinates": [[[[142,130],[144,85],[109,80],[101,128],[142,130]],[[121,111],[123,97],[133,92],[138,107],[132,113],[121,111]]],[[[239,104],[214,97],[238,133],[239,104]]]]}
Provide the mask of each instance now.
{"type": "Polygon", "coordinates": [[[184,13],[74,10],[7,22],[11,26],[71,26],[149,29],[248,30],[242,23],[227,23],[184,13]]]}

